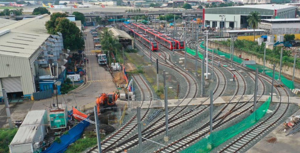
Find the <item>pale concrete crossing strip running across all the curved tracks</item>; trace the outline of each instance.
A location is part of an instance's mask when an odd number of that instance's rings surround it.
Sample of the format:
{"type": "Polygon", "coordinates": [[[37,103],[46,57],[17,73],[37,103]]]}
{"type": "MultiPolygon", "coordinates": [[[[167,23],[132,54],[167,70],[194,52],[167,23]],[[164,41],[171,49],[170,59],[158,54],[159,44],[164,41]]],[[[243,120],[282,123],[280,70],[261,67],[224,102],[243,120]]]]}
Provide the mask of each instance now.
{"type": "MultiPolygon", "coordinates": [[[[243,95],[242,97],[240,95],[237,96],[223,96],[223,97],[217,97],[214,98],[216,99],[213,103],[214,104],[223,104],[223,103],[228,103],[229,101],[231,102],[247,102],[247,101],[253,101],[254,95],[243,95]],[[232,99],[232,100],[231,100],[232,99]]],[[[257,98],[260,96],[258,95],[257,98]]],[[[262,96],[259,101],[266,101],[270,96],[264,95],[262,96]]],[[[282,102],[287,102],[287,97],[282,96],[282,102]]],[[[175,107],[177,106],[183,99],[169,99],[168,100],[168,107],[175,107]]],[[[133,109],[135,109],[137,106],[141,107],[142,109],[148,108],[150,101],[144,101],[143,105],[141,106],[141,101],[130,101],[131,106],[133,109]]],[[[182,101],[182,103],[179,106],[185,106],[185,105],[199,105],[203,102],[202,105],[209,105],[210,100],[207,97],[204,98],[186,98],[185,100],[182,101]]],[[[273,102],[279,102],[279,97],[274,95],[273,96],[273,102]]],[[[290,102],[291,103],[296,103],[297,105],[300,106],[300,98],[299,97],[290,97],[290,102]]],[[[125,105],[128,101],[117,101],[117,105],[125,105]]],[[[150,108],[159,108],[159,107],[164,107],[164,102],[163,100],[154,100],[152,101],[150,108]]]]}

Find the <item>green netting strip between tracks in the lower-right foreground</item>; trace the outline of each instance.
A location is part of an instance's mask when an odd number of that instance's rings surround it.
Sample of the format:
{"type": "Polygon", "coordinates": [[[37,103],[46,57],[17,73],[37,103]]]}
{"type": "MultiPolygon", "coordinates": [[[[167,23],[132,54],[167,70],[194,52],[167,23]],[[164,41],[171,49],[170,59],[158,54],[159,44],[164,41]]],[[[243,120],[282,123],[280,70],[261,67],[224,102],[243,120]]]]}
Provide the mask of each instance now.
{"type": "Polygon", "coordinates": [[[181,151],[181,153],[204,153],[209,152],[212,149],[216,148],[218,145],[222,144],[223,142],[227,141],[231,137],[234,137],[238,133],[246,130],[247,128],[253,126],[255,123],[261,119],[265,113],[267,112],[270,104],[270,97],[264,104],[259,107],[255,113],[250,114],[247,118],[243,119],[241,122],[230,126],[226,129],[219,130],[212,132],[211,136],[204,137],[200,141],[196,142],[189,148],[186,148],[185,150],[181,151]],[[254,119],[255,115],[255,119],[254,119]],[[210,138],[212,140],[210,141],[210,138]],[[212,145],[210,145],[212,144],[212,145]]]}

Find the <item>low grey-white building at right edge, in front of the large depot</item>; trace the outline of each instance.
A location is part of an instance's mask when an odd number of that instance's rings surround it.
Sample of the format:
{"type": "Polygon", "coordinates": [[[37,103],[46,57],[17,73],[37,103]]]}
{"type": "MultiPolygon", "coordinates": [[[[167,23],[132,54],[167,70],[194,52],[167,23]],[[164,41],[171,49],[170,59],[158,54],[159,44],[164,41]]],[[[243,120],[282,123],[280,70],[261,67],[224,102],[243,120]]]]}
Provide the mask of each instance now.
{"type": "Polygon", "coordinates": [[[268,34],[299,34],[300,19],[262,19],[258,28],[266,30],[268,34]]]}

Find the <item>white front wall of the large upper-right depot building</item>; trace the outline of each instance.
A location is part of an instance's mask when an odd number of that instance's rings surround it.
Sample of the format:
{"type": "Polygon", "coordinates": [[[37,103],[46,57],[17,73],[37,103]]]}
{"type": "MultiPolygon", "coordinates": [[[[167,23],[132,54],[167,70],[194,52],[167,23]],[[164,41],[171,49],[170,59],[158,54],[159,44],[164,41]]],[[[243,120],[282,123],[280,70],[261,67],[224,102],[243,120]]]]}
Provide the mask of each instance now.
{"type": "MultiPolygon", "coordinates": [[[[225,28],[229,27],[229,22],[234,22],[234,28],[240,28],[240,24],[241,24],[241,16],[240,15],[233,15],[233,14],[222,14],[225,15],[225,18],[223,18],[223,22],[225,21],[225,28]]],[[[217,21],[217,25],[219,27],[220,22],[222,22],[222,18],[219,17],[219,14],[204,14],[204,20],[205,21],[210,21],[210,26],[212,27],[212,21],[217,21]]],[[[205,23],[206,24],[206,23],[205,23]]]]}

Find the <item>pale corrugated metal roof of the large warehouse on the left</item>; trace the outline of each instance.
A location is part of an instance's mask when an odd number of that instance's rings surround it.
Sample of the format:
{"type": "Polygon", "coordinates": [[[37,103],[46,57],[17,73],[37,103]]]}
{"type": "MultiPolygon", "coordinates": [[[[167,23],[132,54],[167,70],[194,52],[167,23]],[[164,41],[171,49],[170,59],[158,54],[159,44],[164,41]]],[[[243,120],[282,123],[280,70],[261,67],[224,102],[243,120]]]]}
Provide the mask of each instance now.
{"type": "Polygon", "coordinates": [[[9,33],[0,36],[0,55],[30,58],[50,35],[44,26],[50,16],[43,16],[16,21],[0,28],[0,31],[10,29],[9,33]]]}

